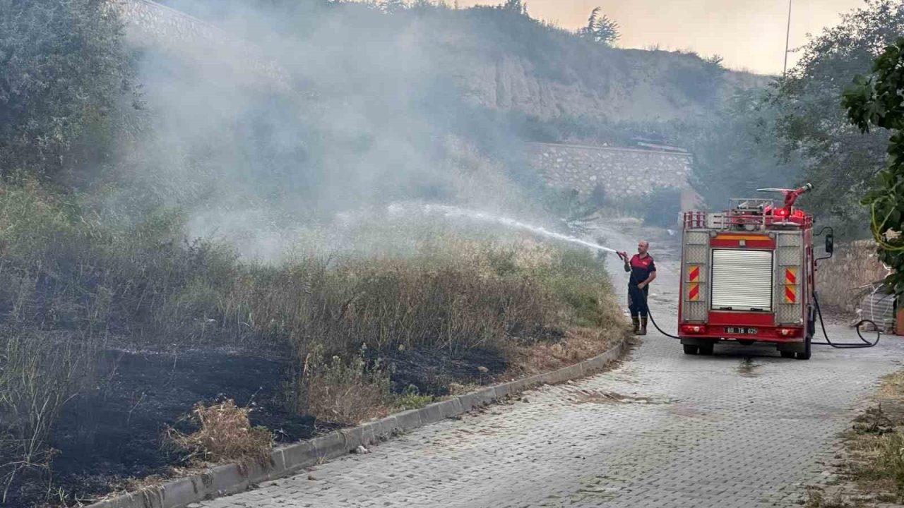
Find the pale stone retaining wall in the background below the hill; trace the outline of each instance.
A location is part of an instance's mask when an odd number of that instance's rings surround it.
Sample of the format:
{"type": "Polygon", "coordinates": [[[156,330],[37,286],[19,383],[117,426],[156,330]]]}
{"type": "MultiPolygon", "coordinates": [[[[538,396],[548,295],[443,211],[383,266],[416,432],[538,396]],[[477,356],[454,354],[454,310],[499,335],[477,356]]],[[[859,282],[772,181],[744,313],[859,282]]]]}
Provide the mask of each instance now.
{"type": "MultiPolygon", "coordinates": [[[[551,187],[589,195],[598,185],[607,196],[631,197],[656,186],[687,190],[692,157],[682,152],[609,146],[529,145],[532,165],[551,187]]],[[[684,200],[692,201],[685,192],[684,200]]]]}

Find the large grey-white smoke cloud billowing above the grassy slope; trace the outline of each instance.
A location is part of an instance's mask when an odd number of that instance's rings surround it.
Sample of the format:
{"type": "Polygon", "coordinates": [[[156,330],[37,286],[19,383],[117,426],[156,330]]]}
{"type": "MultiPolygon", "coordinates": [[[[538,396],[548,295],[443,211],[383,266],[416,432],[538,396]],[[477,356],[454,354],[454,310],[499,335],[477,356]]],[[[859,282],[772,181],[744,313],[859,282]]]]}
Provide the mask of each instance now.
{"type": "Polygon", "coordinates": [[[278,259],[337,213],[391,202],[530,213],[498,162],[517,156],[517,142],[454,90],[438,17],[318,1],[166,4],[243,42],[139,53],[151,128],[124,150],[128,177],[186,212],[191,236],[278,259]],[[250,58],[240,47],[278,62],[288,87],[237,67],[250,58]]]}

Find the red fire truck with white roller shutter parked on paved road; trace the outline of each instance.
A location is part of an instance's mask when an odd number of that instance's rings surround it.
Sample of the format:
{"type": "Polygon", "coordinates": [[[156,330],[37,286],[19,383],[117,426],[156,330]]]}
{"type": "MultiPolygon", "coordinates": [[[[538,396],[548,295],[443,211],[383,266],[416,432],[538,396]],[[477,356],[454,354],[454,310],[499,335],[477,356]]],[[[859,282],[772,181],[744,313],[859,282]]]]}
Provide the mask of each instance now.
{"type": "MultiPolygon", "coordinates": [[[[760,189],[784,200],[733,199],[724,212],[683,214],[678,337],[686,354],[720,341],[774,343],[809,360],[815,331],[813,216],[795,202],[813,186],[760,189]]],[[[833,237],[825,237],[831,256],[833,237]]]]}

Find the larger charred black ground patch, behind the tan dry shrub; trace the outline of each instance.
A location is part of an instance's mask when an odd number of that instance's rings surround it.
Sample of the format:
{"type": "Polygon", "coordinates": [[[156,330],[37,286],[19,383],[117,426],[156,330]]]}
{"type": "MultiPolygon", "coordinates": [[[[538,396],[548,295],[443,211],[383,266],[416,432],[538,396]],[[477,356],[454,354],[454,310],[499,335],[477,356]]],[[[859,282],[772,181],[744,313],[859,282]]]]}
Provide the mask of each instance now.
{"type": "Polygon", "coordinates": [[[53,484],[71,499],[105,494],[127,478],[165,475],[179,457],[160,447],[161,433],[167,425],[191,430],[184,416],[199,401],[253,407],[251,422],[282,442],[335,428],[284,409],[285,361],[213,351],[110,351],[101,363],[107,375],[66,404],[53,433],[52,447],[60,451],[53,484]]]}

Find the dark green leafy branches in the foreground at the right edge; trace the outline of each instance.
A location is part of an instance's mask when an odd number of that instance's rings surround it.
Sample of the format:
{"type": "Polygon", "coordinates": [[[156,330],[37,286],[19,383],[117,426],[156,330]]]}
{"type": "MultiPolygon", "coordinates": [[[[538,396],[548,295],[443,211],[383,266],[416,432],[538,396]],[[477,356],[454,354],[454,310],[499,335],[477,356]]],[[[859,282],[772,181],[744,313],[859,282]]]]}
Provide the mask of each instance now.
{"type": "Polygon", "coordinates": [[[880,259],[892,270],[888,282],[897,295],[904,295],[904,38],[876,59],[871,77],[854,78],[842,106],[862,133],[871,127],[891,132],[885,167],[863,204],[870,209],[880,259]]]}

